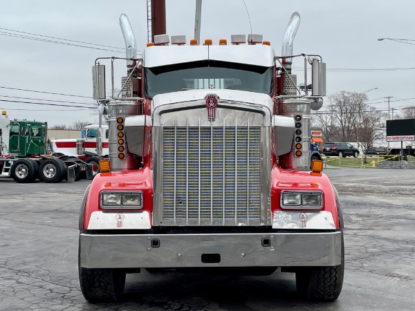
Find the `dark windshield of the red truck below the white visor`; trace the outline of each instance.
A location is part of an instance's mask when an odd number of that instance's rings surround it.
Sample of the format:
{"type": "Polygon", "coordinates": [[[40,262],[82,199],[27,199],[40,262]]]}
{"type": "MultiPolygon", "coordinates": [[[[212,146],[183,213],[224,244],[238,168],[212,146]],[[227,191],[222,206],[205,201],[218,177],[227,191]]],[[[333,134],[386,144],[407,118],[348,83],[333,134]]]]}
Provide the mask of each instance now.
{"type": "Polygon", "coordinates": [[[200,88],[227,88],[273,95],[273,68],[201,61],[145,68],[145,95],[200,88]]]}

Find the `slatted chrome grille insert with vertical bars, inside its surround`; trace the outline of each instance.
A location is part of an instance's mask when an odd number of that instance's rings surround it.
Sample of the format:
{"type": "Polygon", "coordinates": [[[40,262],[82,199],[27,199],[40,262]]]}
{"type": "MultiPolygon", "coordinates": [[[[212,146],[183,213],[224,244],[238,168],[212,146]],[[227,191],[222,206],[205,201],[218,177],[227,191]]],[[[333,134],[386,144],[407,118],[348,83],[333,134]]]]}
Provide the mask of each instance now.
{"type": "Polygon", "coordinates": [[[162,140],[165,225],[259,225],[260,126],[164,126],[162,140]]]}

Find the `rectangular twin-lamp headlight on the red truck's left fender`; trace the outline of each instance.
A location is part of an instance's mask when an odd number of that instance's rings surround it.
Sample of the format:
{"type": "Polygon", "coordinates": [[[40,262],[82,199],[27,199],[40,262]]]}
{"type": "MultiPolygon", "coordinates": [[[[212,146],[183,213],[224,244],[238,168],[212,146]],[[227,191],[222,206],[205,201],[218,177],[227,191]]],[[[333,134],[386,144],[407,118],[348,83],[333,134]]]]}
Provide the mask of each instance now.
{"type": "Polygon", "coordinates": [[[141,191],[102,191],[102,209],[141,209],[141,191]]]}

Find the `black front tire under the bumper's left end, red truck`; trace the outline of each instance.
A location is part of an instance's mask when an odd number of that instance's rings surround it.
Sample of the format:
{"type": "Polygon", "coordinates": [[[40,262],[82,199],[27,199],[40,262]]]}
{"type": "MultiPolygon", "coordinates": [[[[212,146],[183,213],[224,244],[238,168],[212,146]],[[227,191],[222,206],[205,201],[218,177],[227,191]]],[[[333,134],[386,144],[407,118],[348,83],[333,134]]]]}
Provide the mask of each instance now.
{"type": "Polygon", "coordinates": [[[81,292],[91,303],[117,301],[124,292],[125,272],[116,269],[81,267],[80,247],[78,248],[78,272],[81,292]]]}

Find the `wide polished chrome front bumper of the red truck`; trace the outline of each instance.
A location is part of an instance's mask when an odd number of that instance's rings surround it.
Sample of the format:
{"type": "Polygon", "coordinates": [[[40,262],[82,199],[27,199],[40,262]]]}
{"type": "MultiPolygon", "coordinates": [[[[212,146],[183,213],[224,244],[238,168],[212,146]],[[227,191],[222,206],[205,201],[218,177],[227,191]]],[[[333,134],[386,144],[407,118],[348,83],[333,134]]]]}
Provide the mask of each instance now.
{"type": "Polygon", "coordinates": [[[333,266],[340,265],[341,243],[342,232],[80,234],[80,265],[86,268],[333,266]]]}

